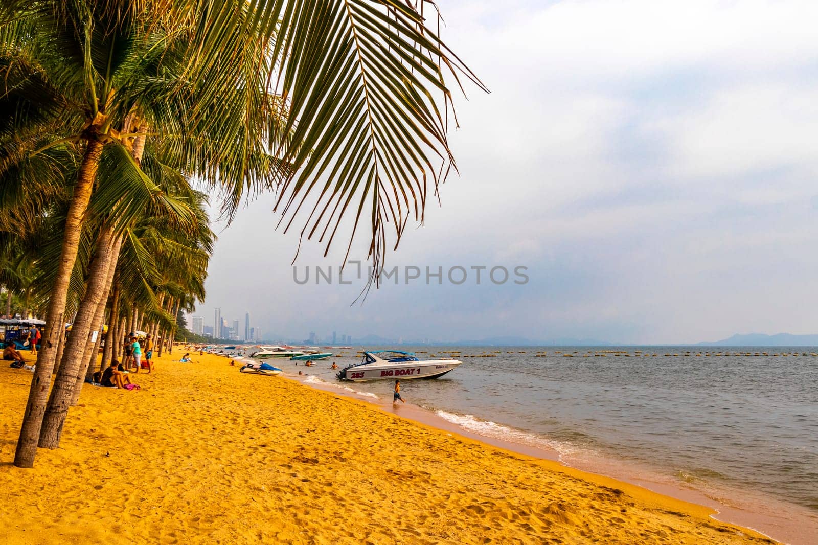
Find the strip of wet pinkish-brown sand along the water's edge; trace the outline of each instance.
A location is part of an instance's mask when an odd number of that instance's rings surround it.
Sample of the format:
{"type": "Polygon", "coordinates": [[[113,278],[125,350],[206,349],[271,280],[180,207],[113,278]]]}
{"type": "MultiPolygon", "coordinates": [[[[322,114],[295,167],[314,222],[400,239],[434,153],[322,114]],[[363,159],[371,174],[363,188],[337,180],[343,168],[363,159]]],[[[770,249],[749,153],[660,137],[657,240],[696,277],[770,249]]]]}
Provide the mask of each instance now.
{"type": "MultiPolygon", "coordinates": [[[[818,536],[818,516],[813,515],[807,511],[806,508],[780,502],[780,500],[775,498],[766,498],[751,493],[750,495],[754,496],[752,502],[747,503],[747,498],[745,497],[745,503],[742,507],[733,507],[726,503],[735,501],[733,498],[721,498],[720,501],[720,499],[713,498],[702,489],[685,487],[681,483],[673,483],[668,480],[660,480],[658,475],[650,475],[641,468],[627,464],[627,462],[621,460],[602,457],[582,460],[575,459],[570,456],[564,456],[555,448],[517,443],[491,435],[481,435],[438,416],[432,409],[423,408],[411,403],[398,403],[397,405],[393,405],[389,403],[388,400],[380,398],[375,400],[357,391],[339,391],[342,389],[339,386],[333,385],[331,382],[324,381],[323,383],[317,383],[314,381],[306,381],[305,379],[309,376],[315,375],[299,376],[286,371],[282,373],[283,378],[298,382],[300,385],[308,386],[313,390],[325,391],[347,399],[354,399],[407,421],[460,435],[479,443],[502,448],[511,453],[523,454],[524,456],[533,457],[538,460],[554,462],[563,468],[570,468],[582,471],[582,473],[588,475],[596,475],[606,479],[632,484],[646,489],[651,493],[657,493],[667,496],[668,498],[689,503],[690,505],[703,507],[712,511],[709,516],[713,520],[751,529],[757,532],[757,534],[761,534],[780,543],[809,544],[813,543],[814,537],[812,536],[818,536]],[[797,516],[801,524],[793,527],[793,516],[797,516]]],[[[745,491],[734,490],[733,492],[738,494],[744,493],[745,491]]]]}

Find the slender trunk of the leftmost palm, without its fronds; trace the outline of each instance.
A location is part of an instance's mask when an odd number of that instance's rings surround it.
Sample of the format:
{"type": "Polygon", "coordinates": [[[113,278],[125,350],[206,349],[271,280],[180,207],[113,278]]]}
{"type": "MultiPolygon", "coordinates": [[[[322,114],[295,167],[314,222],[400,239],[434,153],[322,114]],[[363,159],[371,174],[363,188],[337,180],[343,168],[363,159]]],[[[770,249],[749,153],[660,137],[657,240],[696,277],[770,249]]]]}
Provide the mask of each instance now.
{"type": "Polygon", "coordinates": [[[65,300],[68,298],[71,271],[74,270],[74,262],[77,260],[79,236],[85,220],[85,210],[88,208],[88,201],[91,200],[94,178],[97,178],[97,169],[104,146],[96,138],[88,140],[83,162],[79,165],[77,183],[74,186],[74,194],[71,196],[68,216],[65,218],[60,264],[52,286],[51,297],[48,300],[47,335],[38,353],[29,399],[25,403],[20,439],[17,440],[17,450],[14,456],[14,465],[17,467],[34,467],[34,457],[37,456],[37,444],[40,438],[40,428],[43,426],[48,387],[51,385],[54,370],[54,357],[62,333],[62,318],[65,314],[65,300]]]}

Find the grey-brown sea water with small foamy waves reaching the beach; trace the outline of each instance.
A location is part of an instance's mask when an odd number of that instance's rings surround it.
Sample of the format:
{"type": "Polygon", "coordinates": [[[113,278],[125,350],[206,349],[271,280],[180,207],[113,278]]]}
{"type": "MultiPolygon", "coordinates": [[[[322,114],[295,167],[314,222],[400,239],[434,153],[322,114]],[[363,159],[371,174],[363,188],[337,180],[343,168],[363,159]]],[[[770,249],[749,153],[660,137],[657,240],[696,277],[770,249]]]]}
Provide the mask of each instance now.
{"type": "MultiPolygon", "coordinates": [[[[569,463],[631,463],[716,495],[770,494],[818,514],[818,357],[810,355],[818,348],[402,349],[463,361],[434,381],[402,381],[401,393],[464,430],[553,448],[569,463]]],[[[359,360],[346,354],[281,367],[391,403],[392,381],[336,381],[332,361],[359,360]]]]}

